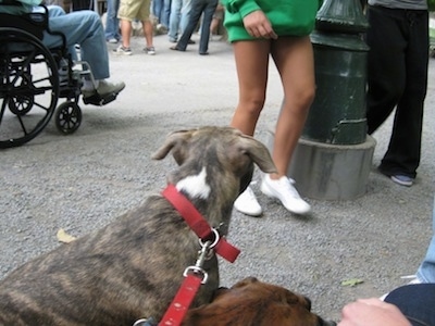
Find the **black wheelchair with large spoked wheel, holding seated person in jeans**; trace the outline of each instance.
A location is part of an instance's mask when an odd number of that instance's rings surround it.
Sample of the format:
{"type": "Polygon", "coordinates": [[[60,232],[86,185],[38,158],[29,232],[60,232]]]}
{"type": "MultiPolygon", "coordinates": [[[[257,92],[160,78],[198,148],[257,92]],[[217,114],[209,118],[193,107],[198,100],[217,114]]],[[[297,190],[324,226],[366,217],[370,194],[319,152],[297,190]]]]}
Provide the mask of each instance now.
{"type": "MultiPolygon", "coordinates": [[[[73,134],[82,123],[83,77],[95,83],[87,62],[73,62],[65,36],[50,32],[48,8],[40,8],[41,12],[24,15],[0,13],[0,149],[34,139],[53,115],[60,133],[73,134]],[[59,36],[62,46],[48,49],[42,43],[45,30],[59,36]],[[66,100],[58,106],[60,98],[66,100]]],[[[116,96],[96,92],[83,102],[104,105],[116,96]]]]}

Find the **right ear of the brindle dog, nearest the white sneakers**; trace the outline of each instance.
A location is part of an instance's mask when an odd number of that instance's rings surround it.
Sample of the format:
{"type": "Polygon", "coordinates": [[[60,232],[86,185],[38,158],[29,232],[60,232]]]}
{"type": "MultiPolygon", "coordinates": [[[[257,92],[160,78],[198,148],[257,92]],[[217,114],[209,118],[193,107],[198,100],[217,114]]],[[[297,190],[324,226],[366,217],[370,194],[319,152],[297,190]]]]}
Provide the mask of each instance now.
{"type": "Polygon", "coordinates": [[[268,148],[253,137],[247,135],[240,135],[241,148],[246,151],[253,163],[265,173],[276,173],[276,166],[272,161],[271,154],[268,148]]]}

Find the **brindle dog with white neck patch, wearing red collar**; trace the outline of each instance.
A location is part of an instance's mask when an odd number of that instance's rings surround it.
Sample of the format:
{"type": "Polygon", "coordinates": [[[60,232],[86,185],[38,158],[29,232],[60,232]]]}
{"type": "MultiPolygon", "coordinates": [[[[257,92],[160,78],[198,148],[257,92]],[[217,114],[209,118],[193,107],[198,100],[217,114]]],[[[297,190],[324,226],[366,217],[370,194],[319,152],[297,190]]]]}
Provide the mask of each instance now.
{"type": "MultiPolygon", "coordinates": [[[[173,133],[153,155],[179,165],[167,176],[212,227],[228,227],[234,200],[248,186],[253,163],[275,166],[268,149],[229,127],[173,133]]],[[[198,237],[161,195],[94,234],[12,272],[0,283],[0,325],[133,325],[160,321],[198,258],[198,237]]],[[[210,302],[217,260],[192,306],[210,302]]]]}

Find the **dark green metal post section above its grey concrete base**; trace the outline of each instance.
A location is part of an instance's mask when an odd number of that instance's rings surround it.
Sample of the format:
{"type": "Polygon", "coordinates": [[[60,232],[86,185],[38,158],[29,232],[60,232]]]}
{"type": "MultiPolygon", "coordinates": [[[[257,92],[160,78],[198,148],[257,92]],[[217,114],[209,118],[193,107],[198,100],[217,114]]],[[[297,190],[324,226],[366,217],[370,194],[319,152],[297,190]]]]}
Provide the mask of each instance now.
{"type": "Polygon", "coordinates": [[[316,93],[301,137],[333,145],[365,141],[368,22],[359,0],[325,0],[311,35],[316,93]]]}

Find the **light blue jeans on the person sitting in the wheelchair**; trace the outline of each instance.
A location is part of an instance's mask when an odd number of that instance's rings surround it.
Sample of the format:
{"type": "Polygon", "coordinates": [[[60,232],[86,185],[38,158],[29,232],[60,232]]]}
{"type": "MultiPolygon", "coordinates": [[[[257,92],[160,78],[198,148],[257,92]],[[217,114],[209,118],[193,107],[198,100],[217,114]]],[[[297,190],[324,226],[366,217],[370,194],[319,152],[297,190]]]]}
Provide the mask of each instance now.
{"type": "MultiPolygon", "coordinates": [[[[65,14],[62,8],[50,5],[49,26],[52,32],[65,35],[66,47],[71,49],[73,59],[75,59],[74,46],[80,46],[82,60],[89,63],[96,79],[109,78],[108,47],[98,13],[82,10],[65,14]]],[[[55,48],[62,45],[62,40],[59,36],[45,33],[42,43],[47,48],[55,48]]]]}

